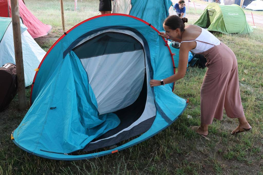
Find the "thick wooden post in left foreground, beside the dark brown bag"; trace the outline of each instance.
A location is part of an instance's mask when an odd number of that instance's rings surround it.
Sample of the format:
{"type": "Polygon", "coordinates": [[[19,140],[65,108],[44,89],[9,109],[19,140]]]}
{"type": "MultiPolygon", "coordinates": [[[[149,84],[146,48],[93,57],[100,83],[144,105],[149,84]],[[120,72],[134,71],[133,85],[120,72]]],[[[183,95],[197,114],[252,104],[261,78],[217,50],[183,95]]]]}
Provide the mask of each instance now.
{"type": "Polygon", "coordinates": [[[27,107],[18,0],[11,0],[19,110],[27,107]]]}

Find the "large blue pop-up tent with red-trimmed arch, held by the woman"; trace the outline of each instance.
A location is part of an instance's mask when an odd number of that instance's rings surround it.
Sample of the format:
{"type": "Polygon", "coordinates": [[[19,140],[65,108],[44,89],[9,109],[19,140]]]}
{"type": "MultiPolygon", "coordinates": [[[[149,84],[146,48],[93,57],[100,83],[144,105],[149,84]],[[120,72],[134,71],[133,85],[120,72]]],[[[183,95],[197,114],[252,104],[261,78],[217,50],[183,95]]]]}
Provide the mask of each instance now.
{"type": "Polygon", "coordinates": [[[11,138],[29,153],[61,160],[136,145],[184,111],[187,102],[173,94],[173,83],[149,85],[150,79],[173,74],[170,49],[149,23],[124,14],[87,19],[63,34],[43,58],[32,85],[32,106],[11,138]]]}

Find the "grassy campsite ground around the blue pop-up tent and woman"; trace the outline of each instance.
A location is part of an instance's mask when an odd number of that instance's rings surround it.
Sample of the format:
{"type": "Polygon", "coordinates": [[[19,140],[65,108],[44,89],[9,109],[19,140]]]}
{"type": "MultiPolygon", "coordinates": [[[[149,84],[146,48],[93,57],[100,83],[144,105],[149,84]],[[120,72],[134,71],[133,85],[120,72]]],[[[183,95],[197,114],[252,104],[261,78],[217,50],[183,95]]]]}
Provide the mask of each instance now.
{"type": "MultiPolygon", "coordinates": [[[[189,7],[189,24],[198,19],[203,11],[201,7],[207,4],[191,1],[197,9],[189,7]]],[[[53,26],[49,35],[36,39],[47,51],[62,35],[59,1],[25,0],[25,3],[37,18],[53,26]]],[[[74,1],[64,0],[64,10],[68,30],[97,15],[98,1],[79,0],[78,10],[74,11],[74,1]]],[[[256,15],[263,19],[262,14],[256,15]]],[[[200,86],[206,71],[189,68],[185,78],[175,83],[174,93],[190,101],[178,120],[138,145],[97,159],[55,161],[30,156],[15,146],[10,134],[26,114],[26,111],[18,110],[16,97],[9,108],[0,113],[0,174],[263,174],[262,33],[263,27],[258,25],[248,35],[215,34],[236,54],[241,99],[253,127],[251,132],[230,135],[237,120],[229,119],[225,114],[222,121],[214,120],[209,126],[209,140],[189,129],[190,125],[200,124],[200,86]]],[[[30,88],[26,91],[29,108],[30,88]]]]}

